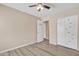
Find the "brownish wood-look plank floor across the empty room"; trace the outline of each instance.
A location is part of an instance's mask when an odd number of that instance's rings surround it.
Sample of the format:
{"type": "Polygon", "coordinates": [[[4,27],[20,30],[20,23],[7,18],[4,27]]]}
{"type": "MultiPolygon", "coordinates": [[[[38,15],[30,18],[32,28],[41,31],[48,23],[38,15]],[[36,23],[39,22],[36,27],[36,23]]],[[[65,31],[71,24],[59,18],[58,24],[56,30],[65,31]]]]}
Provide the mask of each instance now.
{"type": "Polygon", "coordinates": [[[45,40],[12,51],[1,53],[0,56],[79,56],[79,51],[55,46],[45,40]]]}

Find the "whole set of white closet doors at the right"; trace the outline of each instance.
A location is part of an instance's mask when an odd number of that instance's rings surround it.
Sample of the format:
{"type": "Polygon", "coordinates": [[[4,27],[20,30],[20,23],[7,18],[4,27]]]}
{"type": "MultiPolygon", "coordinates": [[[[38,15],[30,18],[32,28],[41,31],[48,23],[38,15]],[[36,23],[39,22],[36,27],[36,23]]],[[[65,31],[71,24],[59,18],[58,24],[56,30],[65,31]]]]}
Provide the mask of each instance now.
{"type": "Polygon", "coordinates": [[[77,49],[77,16],[58,20],[57,42],[59,45],[77,49]]]}

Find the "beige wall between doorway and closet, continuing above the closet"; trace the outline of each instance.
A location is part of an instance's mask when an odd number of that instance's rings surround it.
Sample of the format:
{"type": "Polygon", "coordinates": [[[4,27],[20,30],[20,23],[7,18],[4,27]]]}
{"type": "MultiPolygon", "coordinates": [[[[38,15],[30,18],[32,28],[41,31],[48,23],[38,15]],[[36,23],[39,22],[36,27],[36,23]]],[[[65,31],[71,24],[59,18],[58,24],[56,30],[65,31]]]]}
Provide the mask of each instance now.
{"type": "Polygon", "coordinates": [[[62,11],[49,17],[49,40],[51,44],[57,43],[57,20],[72,15],[79,15],[79,8],[62,11]]]}

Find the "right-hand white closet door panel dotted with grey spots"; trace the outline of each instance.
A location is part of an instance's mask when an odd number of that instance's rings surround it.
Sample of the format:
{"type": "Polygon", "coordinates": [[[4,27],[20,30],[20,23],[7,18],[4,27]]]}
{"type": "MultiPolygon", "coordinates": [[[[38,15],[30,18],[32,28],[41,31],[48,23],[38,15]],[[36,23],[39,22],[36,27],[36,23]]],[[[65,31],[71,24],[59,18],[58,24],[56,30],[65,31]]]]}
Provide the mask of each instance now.
{"type": "Polygon", "coordinates": [[[64,46],[77,49],[77,17],[67,17],[65,22],[65,43],[64,46]]]}

